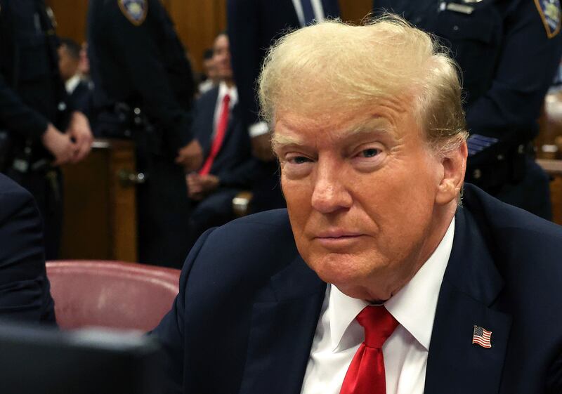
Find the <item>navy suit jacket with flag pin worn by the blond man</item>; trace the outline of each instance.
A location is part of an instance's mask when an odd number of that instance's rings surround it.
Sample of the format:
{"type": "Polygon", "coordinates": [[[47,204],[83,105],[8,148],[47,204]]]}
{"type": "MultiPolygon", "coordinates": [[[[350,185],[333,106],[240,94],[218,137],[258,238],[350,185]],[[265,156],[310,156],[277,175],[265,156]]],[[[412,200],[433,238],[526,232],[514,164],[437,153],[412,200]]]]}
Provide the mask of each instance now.
{"type": "MultiPolygon", "coordinates": [[[[431,394],[562,392],[562,229],[466,185],[427,360],[431,394]],[[471,343],[473,325],[492,348],[471,343]]],[[[287,211],[206,232],[155,329],[171,393],[299,394],[326,284],[287,211]]]]}

